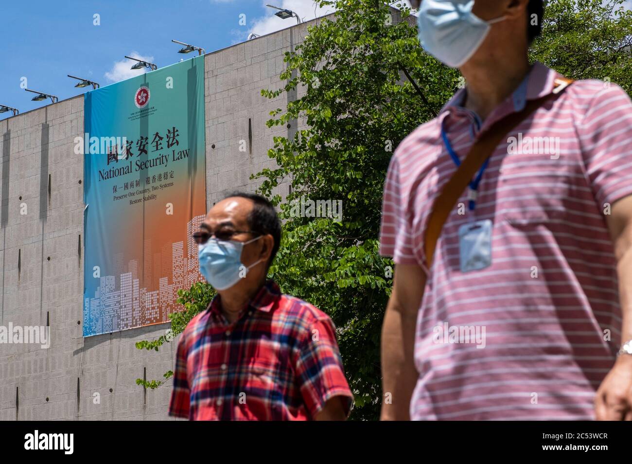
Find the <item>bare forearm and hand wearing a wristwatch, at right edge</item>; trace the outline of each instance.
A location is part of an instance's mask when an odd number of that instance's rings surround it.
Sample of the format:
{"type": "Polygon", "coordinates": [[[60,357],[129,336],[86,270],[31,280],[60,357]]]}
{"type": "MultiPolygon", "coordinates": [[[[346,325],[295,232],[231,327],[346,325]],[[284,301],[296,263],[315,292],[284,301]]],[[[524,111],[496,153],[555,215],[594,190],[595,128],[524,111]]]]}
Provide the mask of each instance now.
{"type": "MultiPolygon", "coordinates": [[[[606,216],[617,258],[623,321],[621,342],[632,339],[632,195],[620,199],[606,216]]],[[[597,420],[632,420],[632,355],[622,354],[595,395],[597,420]]]]}

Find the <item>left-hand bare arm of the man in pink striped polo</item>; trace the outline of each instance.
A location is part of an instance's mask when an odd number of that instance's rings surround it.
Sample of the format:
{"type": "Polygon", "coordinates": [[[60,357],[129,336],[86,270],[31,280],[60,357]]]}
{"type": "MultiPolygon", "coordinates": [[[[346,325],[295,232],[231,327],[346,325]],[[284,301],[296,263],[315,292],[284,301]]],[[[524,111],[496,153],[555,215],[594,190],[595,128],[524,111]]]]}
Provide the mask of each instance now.
{"type": "Polygon", "coordinates": [[[397,265],[382,324],[381,420],[410,420],[410,398],[418,372],[414,362],[417,312],[426,275],[417,265],[397,265]]]}

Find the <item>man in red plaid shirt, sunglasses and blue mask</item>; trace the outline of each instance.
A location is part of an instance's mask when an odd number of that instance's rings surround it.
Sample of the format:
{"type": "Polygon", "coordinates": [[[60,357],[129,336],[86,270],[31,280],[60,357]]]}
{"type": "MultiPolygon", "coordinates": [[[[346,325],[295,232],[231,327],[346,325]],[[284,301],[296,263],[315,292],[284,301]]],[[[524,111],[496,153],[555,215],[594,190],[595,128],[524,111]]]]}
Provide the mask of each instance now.
{"type": "Polygon", "coordinates": [[[193,234],[217,290],[178,343],[169,415],[190,420],[344,420],[353,395],[334,324],[283,295],[267,270],[281,222],[262,196],[236,193],[193,234]]]}

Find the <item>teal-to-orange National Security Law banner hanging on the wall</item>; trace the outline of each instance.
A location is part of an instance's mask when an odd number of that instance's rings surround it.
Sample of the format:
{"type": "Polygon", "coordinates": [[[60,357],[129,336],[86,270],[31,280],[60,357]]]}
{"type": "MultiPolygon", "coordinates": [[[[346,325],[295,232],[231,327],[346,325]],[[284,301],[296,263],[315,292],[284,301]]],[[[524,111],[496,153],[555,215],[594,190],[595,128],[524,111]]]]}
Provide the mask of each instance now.
{"type": "Polygon", "coordinates": [[[167,322],[202,280],[204,56],[87,92],[84,115],[83,336],[167,322]]]}

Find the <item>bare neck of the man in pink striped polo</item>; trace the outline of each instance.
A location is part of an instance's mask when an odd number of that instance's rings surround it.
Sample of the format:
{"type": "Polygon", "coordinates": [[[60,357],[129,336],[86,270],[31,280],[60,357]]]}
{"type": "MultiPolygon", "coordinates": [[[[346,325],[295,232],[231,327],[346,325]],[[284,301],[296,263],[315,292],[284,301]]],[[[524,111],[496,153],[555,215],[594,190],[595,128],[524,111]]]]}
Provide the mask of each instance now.
{"type": "Polygon", "coordinates": [[[523,59],[494,59],[468,63],[461,73],[467,82],[465,107],[481,120],[501,104],[520,85],[530,69],[526,55],[523,59]]]}

